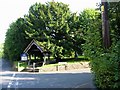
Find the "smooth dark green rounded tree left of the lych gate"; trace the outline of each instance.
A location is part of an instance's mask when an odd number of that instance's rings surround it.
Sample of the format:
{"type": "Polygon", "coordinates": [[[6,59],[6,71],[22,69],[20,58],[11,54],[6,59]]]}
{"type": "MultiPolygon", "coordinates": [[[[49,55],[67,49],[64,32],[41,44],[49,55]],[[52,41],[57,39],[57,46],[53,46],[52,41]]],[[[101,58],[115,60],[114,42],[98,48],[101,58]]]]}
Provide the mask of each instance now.
{"type": "Polygon", "coordinates": [[[29,42],[26,39],[25,29],[23,18],[19,18],[10,25],[4,43],[5,58],[12,61],[20,60],[20,54],[29,42]]]}

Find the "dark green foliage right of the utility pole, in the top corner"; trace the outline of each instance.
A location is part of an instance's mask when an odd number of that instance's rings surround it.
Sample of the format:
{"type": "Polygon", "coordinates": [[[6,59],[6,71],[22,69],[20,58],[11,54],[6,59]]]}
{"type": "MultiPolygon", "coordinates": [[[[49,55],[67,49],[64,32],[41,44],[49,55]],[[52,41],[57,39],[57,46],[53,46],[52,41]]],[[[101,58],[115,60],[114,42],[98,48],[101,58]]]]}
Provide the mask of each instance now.
{"type": "MultiPolygon", "coordinates": [[[[109,2],[109,24],[111,33],[115,33],[116,38],[120,38],[120,2],[109,2]]],[[[119,40],[119,39],[117,39],[119,40]]]]}

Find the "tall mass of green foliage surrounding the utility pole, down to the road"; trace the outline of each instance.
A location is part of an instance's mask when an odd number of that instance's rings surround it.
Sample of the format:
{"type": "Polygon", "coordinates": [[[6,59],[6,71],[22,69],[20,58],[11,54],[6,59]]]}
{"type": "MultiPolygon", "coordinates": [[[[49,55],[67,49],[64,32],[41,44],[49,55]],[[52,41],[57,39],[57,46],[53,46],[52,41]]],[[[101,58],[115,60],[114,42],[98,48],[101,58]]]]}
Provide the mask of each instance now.
{"type": "Polygon", "coordinates": [[[120,88],[120,2],[109,3],[111,46],[104,48],[101,18],[88,20],[85,29],[84,53],[91,59],[91,68],[98,88],[120,88]],[[97,21],[97,22],[96,22],[97,21]],[[93,24],[94,23],[94,24],[93,24]]]}

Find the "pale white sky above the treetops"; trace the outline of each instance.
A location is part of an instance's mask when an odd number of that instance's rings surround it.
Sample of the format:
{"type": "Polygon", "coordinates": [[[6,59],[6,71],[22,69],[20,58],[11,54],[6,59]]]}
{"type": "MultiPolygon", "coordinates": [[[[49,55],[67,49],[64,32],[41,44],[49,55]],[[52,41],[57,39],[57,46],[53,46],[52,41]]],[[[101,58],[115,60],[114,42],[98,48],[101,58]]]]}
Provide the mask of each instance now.
{"type": "MultiPolygon", "coordinates": [[[[45,3],[52,0],[0,0],[0,43],[4,43],[5,33],[9,25],[28,14],[29,7],[36,2],[45,3]]],[[[69,4],[72,12],[80,12],[85,8],[96,8],[100,0],[54,0],[69,4]]]]}

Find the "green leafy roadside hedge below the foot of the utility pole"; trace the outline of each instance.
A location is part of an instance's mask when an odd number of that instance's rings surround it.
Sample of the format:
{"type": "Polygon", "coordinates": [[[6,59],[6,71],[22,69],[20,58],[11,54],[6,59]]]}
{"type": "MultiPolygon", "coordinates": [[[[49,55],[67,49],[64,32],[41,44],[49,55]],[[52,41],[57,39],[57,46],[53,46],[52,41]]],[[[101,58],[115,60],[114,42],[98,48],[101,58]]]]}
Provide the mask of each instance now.
{"type": "MultiPolygon", "coordinates": [[[[120,41],[112,45],[107,52],[100,52],[92,58],[91,67],[95,75],[95,83],[99,88],[120,87],[120,41]]],[[[93,55],[94,56],[94,55],[93,55]]]]}

